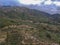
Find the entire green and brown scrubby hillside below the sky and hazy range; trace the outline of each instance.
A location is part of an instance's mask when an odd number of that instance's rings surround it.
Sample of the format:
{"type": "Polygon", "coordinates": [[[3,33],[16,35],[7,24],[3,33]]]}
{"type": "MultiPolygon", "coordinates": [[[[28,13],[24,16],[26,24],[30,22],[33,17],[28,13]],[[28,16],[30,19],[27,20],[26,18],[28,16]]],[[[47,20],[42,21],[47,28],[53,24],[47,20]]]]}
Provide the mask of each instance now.
{"type": "Polygon", "coordinates": [[[58,17],[24,7],[0,7],[0,45],[60,45],[58,17]]]}

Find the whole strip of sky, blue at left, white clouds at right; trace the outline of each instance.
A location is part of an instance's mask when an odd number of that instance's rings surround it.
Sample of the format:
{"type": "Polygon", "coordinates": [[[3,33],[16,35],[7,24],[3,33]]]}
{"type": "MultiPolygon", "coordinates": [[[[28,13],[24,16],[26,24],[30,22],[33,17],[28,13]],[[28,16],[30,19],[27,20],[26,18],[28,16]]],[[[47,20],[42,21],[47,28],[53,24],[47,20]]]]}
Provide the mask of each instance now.
{"type": "Polygon", "coordinates": [[[11,4],[26,4],[26,5],[41,5],[42,3],[44,5],[51,5],[54,4],[56,6],[60,6],[60,0],[0,0],[0,5],[1,4],[7,4],[7,5],[11,5],[11,4]]]}

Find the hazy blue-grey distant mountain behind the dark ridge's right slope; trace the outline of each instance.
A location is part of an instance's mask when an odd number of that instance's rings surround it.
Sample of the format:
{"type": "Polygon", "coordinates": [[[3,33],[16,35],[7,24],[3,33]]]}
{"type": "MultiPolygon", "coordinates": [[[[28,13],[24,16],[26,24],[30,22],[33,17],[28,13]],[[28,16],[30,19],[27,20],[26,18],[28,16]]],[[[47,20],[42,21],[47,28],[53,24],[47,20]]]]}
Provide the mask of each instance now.
{"type": "Polygon", "coordinates": [[[43,11],[43,12],[46,12],[46,13],[49,13],[49,14],[60,14],[60,7],[59,6],[56,6],[54,4],[51,4],[51,5],[44,5],[44,4],[41,4],[41,5],[25,5],[24,7],[28,7],[28,8],[31,8],[31,9],[36,9],[36,10],[39,10],[39,11],[43,11]]]}

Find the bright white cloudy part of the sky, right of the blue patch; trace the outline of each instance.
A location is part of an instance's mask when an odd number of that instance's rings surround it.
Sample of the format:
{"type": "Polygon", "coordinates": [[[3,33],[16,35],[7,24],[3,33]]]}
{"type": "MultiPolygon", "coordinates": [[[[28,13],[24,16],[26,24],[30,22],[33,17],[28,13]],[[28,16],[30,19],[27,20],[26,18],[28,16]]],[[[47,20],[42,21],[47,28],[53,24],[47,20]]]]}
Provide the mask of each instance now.
{"type": "Polygon", "coordinates": [[[51,5],[51,4],[55,4],[56,6],[60,6],[60,1],[59,0],[18,0],[20,3],[22,4],[26,4],[26,5],[40,5],[41,3],[44,3],[44,5],[51,5]]]}

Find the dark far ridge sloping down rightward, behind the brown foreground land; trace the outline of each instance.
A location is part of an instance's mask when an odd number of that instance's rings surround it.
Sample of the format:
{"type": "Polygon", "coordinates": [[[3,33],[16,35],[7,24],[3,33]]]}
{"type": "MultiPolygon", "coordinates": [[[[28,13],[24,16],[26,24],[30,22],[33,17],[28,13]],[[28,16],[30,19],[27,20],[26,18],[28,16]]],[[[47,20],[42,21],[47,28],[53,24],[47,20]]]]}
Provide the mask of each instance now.
{"type": "Polygon", "coordinates": [[[17,6],[13,6],[13,7],[12,6],[8,6],[8,7],[4,6],[4,7],[0,7],[0,11],[2,12],[2,13],[0,12],[1,17],[11,18],[11,19],[23,18],[25,20],[28,19],[28,18],[29,18],[29,20],[31,20],[30,18],[32,18],[32,20],[35,20],[35,19],[33,19],[33,17],[34,17],[34,18],[36,18],[36,21],[41,21],[41,22],[43,22],[43,21],[48,22],[49,21],[49,23],[54,22],[51,14],[45,13],[45,12],[42,12],[42,11],[38,11],[38,10],[35,10],[35,9],[29,9],[29,8],[19,7],[19,6],[18,6],[18,8],[17,8],[17,6]],[[3,10],[5,10],[5,11],[3,11],[3,10]],[[27,17],[25,17],[25,16],[27,16],[27,17]]]}

